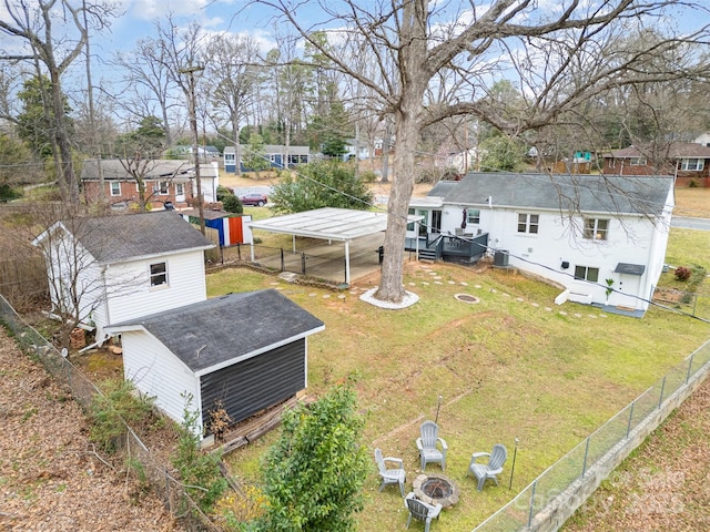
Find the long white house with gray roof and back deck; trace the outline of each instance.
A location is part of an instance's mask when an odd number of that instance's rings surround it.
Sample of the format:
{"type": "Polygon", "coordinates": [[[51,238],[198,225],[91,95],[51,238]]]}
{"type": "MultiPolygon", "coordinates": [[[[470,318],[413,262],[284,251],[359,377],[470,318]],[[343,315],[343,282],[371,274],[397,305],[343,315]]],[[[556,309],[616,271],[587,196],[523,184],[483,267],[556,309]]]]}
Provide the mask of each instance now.
{"type": "Polygon", "coordinates": [[[409,213],[425,227],[417,234],[412,224],[407,237],[425,248],[487,235],[495,263],[559,284],[559,301],[642,313],[663,268],[672,208],[670,176],[469,173],[412,198],[409,213]]]}

